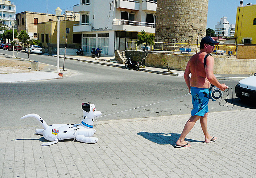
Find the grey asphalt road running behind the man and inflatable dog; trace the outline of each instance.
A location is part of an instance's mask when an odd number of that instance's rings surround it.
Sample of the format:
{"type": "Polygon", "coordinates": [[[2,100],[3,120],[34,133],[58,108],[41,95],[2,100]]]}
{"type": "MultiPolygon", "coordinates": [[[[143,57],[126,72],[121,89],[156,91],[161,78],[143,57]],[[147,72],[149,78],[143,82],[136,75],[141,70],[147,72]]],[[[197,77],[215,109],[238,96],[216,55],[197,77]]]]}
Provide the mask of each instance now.
{"type": "MultiPolygon", "coordinates": [[[[11,51],[0,49],[0,52],[12,55],[11,51]]],[[[27,59],[27,54],[23,52],[19,52],[18,55],[27,59]]],[[[56,65],[56,57],[31,54],[31,60],[56,65]]],[[[62,66],[63,59],[60,59],[60,67],[62,66]]],[[[31,126],[40,128],[40,124],[34,118],[19,119],[30,113],[39,114],[49,125],[80,123],[82,102],[94,103],[96,110],[102,112],[103,117],[98,118],[98,121],[190,114],[191,112],[191,96],[185,95],[188,93],[188,88],[183,77],[75,60],[65,60],[65,68],[75,70],[78,74],[47,81],[0,83],[1,126],[6,129],[31,126]],[[152,103],[157,104],[150,105],[152,103]],[[136,107],[140,108],[130,110],[136,107]],[[116,112],[120,113],[112,114],[116,112]],[[107,114],[112,115],[105,116],[107,114]]],[[[237,81],[220,82],[233,88],[233,110],[255,108],[235,97],[237,81]]],[[[224,96],[226,95],[225,93],[224,96]]],[[[229,97],[232,97],[231,92],[229,97]]],[[[231,108],[232,100],[229,99],[228,102],[231,108]]],[[[225,99],[222,99],[221,104],[225,104],[225,99]]],[[[229,109],[227,106],[220,106],[218,100],[209,102],[209,110],[215,112],[229,109]]]]}

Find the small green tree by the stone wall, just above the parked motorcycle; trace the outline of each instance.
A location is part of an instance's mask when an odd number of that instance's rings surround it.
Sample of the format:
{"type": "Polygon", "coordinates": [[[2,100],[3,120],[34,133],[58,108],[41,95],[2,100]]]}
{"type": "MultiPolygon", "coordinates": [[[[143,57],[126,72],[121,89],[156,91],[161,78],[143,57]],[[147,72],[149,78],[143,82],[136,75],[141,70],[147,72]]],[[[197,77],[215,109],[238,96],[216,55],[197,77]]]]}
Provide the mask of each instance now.
{"type": "Polygon", "coordinates": [[[146,47],[147,45],[151,45],[151,44],[154,44],[155,42],[155,36],[153,34],[146,34],[145,30],[142,30],[141,31],[141,34],[138,34],[138,41],[136,42],[136,45],[140,45],[140,44],[143,44],[143,43],[146,43],[145,44],[145,47],[143,49],[143,51],[145,52],[145,57],[142,59],[142,66],[145,65],[145,60],[147,58],[147,50],[146,50],[146,47]]]}

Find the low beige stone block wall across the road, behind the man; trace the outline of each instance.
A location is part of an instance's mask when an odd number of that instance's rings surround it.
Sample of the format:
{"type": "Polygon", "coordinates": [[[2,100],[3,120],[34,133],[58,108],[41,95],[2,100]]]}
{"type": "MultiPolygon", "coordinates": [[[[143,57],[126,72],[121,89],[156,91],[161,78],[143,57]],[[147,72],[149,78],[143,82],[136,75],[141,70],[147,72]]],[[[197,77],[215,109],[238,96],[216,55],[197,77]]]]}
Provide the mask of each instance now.
{"type": "MultiPolygon", "coordinates": [[[[139,60],[144,57],[143,51],[126,51],[136,55],[139,60]],[[134,53],[133,53],[134,52],[134,53]],[[141,54],[139,54],[141,53],[141,54]]],[[[172,70],[185,71],[187,63],[192,55],[175,55],[166,53],[148,53],[145,60],[145,65],[148,67],[165,68],[166,64],[163,65],[163,60],[166,59],[169,63],[169,68],[172,70]]],[[[215,74],[252,74],[256,73],[256,59],[237,59],[234,56],[223,56],[220,55],[214,57],[214,73],[215,74]]],[[[132,58],[133,59],[133,58],[132,58]]]]}

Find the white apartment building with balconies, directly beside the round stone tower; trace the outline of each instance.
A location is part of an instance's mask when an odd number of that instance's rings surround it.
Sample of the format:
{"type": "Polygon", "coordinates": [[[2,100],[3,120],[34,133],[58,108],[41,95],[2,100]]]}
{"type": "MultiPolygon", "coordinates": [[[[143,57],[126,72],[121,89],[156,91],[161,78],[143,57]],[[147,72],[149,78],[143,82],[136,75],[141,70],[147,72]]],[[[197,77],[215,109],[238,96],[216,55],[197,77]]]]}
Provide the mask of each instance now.
{"type": "Polygon", "coordinates": [[[73,32],[82,33],[84,52],[99,47],[113,56],[115,49],[125,50],[127,42],[137,41],[142,30],[155,33],[156,5],[157,0],[80,0],[73,7],[80,14],[73,32]]]}

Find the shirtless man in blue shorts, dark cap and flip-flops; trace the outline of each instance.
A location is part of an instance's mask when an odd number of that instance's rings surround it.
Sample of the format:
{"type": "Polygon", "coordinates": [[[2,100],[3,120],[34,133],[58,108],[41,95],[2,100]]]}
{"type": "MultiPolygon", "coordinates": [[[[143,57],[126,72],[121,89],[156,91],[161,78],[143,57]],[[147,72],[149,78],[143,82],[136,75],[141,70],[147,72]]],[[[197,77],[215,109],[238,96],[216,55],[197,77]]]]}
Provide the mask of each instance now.
{"type": "Polygon", "coordinates": [[[206,58],[206,66],[204,67],[204,57],[213,52],[215,44],[219,44],[219,42],[214,41],[212,37],[206,36],[202,38],[200,52],[191,57],[185,69],[184,79],[192,95],[193,109],[191,111],[191,118],[188,119],[180,138],[176,142],[175,147],[177,148],[191,147],[184,139],[199,119],[205,137],[204,143],[211,143],[217,139],[217,137],[210,136],[207,131],[209,88],[211,83],[221,89],[221,91],[224,91],[228,87],[225,86],[225,83],[219,83],[214,76],[214,59],[211,55],[206,58]],[[190,73],[191,78],[189,78],[190,73]]]}

